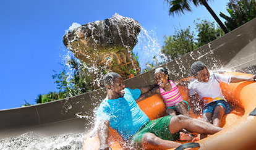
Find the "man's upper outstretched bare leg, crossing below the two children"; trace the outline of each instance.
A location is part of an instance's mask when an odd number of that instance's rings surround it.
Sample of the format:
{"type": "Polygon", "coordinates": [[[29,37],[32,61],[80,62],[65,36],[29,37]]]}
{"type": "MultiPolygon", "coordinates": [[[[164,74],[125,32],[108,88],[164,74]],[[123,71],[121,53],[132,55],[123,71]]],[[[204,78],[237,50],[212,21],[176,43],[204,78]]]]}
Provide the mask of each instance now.
{"type": "Polygon", "coordinates": [[[186,128],[194,133],[205,133],[210,135],[222,130],[222,128],[215,127],[211,123],[204,122],[203,120],[192,119],[184,115],[173,116],[169,123],[169,130],[171,131],[171,134],[177,133],[182,128],[186,128]]]}

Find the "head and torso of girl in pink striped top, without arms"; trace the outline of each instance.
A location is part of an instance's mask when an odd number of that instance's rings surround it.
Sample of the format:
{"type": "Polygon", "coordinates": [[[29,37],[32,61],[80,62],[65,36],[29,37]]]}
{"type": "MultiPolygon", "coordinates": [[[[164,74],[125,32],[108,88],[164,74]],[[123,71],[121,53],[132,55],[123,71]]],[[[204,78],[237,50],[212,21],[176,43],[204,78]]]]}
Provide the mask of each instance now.
{"type": "Polygon", "coordinates": [[[179,88],[169,80],[169,70],[159,67],[154,72],[155,82],[159,88],[155,88],[155,93],[161,94],[164,103],[166,104],[166,112],[168,115],[178,114],[189,115],[189,105],[181,97],[179,88]]]}

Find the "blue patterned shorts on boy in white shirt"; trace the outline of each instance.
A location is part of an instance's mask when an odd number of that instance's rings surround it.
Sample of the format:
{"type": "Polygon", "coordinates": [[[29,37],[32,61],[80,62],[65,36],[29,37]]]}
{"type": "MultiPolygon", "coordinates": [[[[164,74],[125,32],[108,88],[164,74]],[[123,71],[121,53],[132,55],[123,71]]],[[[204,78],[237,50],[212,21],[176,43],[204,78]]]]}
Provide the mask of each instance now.
{"type": "Polygon", "coordinates": [[[210,102],[210,104],[208,104],[207,106],[204,107],[203,109],[203,114],[205,114],[206,112],[213,114],[213,111],[215,109],[215,107],[217,106],[223,106],[225,109],[225,115],[229,114],[229,112],[231,112],[231,107],[228,104],[228,102],[226,102],[225,100],[218,100],[218,101],[214,101],[214,102],[210,102]]]}

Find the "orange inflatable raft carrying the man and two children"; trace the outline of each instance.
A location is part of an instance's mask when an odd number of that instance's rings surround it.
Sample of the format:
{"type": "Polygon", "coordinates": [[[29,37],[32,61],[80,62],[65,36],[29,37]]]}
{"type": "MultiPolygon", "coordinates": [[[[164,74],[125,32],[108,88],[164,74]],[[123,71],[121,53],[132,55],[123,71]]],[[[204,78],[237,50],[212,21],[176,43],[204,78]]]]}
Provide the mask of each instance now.
{"type": "MultiPolygon", "coordinates": [[[[252,76],[238,72],[228,72],[224,75],[252,76]]],[[[197,142],[200,144],[200,149],[256,149],[256,117],[249,116],[249,113],[256,107],[256,83],[242,81],[230,85],[220,83],[220,86],[233,110],[223,117],[223,131],[197,142]]],[[[187,87],[179,86],[179,90],[182,98],[187,101],[189,99],[187,87]]],[[[150,120],[157,119],[165,113],[165,104],[158,94],[140,101],[138,104],[150,120]]],[[[83,143],[83,149],[98,149],[98,137],[90,138],[89,135],[90,133],[83,143]]],[[[117,131],[112,128],[109,128],[108,143],[112,149],[123,149],[126,145],[117,131]]]]}

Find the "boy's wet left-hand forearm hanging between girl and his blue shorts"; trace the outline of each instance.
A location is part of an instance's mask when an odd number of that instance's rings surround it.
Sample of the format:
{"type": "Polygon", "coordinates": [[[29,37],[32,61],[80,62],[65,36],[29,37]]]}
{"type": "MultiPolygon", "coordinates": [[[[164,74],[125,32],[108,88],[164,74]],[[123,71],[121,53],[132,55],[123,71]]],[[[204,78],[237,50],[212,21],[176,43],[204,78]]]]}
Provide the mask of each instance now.
{"type": "Polygon", "coordinates": [[[199,98],[198,94],[189,96],[189,107],[193,110],[194,114],[202,114],[203,113],[203,101],[199,98]]]}

